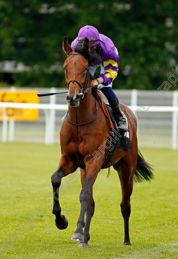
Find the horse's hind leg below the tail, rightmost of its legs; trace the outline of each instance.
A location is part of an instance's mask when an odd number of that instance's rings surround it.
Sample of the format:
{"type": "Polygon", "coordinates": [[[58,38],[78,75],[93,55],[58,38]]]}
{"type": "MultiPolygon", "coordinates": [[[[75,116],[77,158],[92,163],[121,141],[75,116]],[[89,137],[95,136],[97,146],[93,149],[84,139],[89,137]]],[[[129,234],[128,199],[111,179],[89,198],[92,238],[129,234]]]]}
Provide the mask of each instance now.
{"type": "Polygon", "coordinates": [[[136,164],[132,164],[130,156],[120,160],[120,167],[117,169],[119,179],[121,182],[122,201],[121,201],[121,213],[124,218],[124,245],[131,245],[129,239],[129,217],[131,212],[130,196],[133,191],[133,174],[135,172],[136,164]]]}

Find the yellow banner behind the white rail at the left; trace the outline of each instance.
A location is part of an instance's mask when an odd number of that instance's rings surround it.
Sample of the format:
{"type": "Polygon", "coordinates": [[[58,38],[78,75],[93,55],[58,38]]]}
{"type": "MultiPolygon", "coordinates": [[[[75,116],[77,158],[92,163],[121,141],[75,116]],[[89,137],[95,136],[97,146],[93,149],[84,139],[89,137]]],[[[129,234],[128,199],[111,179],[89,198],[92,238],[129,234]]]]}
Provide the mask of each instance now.
{"type": "MultiPolygon", "coordinates": [[[[0,102],[38,103],[37,92],[10,92],[0,91],[0,102]]],[[[14,121],[36,121],[38,120],[38,109],[0,108],[0,121],[3,120],[5,109],[8,120],[14,121]]]]}

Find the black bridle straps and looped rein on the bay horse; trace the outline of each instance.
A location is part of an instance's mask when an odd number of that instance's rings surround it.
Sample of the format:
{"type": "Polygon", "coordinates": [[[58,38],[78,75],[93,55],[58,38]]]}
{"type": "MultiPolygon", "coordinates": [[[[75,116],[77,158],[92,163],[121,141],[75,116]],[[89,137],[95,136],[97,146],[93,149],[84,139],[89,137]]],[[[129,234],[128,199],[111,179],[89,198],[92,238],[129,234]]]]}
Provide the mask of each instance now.
{"type": "MultiPolygon", "coordinates": [[[[68,58],[70,55],[81,55],[81,56],[84,57],[84,55],[82,55],[81,53],[73,52],[73,53],[70,53],[70,54],[67,56],[67,58],[68,58]]],[[[84,57],[84,58],[85,58],[85,57],[84,57]]],[[[87,59],[86,59],[86,61],[88,62],[87,59]]],[[[86,74],[86,79],[85,79],[84,84],[81,85],[77,80],[72,79],[72,80],[70,80],[70,81],[67,83],[67,90],[69,91],[69,84],[70,84],[71,82],[76,82],[77,84],[80,85],[81,92],[79,93],[79,95],[82,95],[82,99],[83,99],[84,93],[85,93],[85,92],[88,92],[91,88],[93,88],[93,86],[91,86],[91,87],[85,89],[86,85],[88,84],[88,80],[89,80],[89,63],[88,63],[88,66],[87,66],[87,74],[86,74]]],[[[94,97],[94,98],[95,98],[95,97],[94,97]]],[[[86,125],[86,124],[89,124],[89,123],[92,122],[92,121],[95,121],[95,120],[97,119],[97,117],[98,117],[98,108],[97,108],[97,101],[96,101],[96,98],[95,98],[95,105],[96,105],[96,112],[95,112],[95,115],[94,115],[93,119],[91,119],[91,121],[86,122],[86,123],[83,123],[83,124],[77,124],[77,123],[73,123],[73,122],[69,121],[68,118],[67,118],[67,115],[66,115],[67,121],[70,122],[71,124],[77,125],[77,126],[86,125]],[[97,113],[97,117],[95,118],[96,113],[97,113]]],[[[67,114],[68,114],[68,112],[67,112],[67,114]]]]}

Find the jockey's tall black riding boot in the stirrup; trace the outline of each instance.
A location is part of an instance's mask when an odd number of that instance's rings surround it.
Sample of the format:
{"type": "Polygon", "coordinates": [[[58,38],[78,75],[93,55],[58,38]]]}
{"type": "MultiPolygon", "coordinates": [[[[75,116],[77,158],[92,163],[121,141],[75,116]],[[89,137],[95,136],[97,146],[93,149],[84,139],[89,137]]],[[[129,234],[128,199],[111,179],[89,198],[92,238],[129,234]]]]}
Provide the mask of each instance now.
{"type": "Polygon", "coordinates": [[[120,107],[117,97],[114,100],[109,101],[109,104],[111,105],[111,109],[112,109],[112,111],[114,113],[114,117],[116,119],[117,132],[128,131],[127,122],[122,115],[121,107],[120,107]]]}

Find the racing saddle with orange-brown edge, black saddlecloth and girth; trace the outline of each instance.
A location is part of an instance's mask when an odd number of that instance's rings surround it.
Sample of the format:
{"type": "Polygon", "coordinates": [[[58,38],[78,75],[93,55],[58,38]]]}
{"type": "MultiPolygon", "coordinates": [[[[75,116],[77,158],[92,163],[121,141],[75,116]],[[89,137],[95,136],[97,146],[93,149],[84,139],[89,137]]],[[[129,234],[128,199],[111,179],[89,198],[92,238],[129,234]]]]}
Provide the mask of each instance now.
{"type": "MultiPolygon", "coordinates": [[[[115,121],[114,115],[113,115],[113,111],[110,107],[109,104],[106,104],[101,96],[101,93],[97,92],[97,97],[99,99],[100,105],[102,106],[102,109],[105,113],[105,116],[107,118],[107,121],[109,122],[110,125],[110,136],[108,134],[109,140],[110,140],[110,146],[109,146],[109,151],[106,155],[105,161],[101,166],[101,169],[103,167],[105,167],[109,161],[111,160],[114,150],[116,147],[120,147],[126,150],[131,150],[131,145],[130,145],[130,131],[126,131],[126,132],[121,132],[118,133],[117,132],[117,123],[115,121]]],[[[123,116],[126,118],[127,121],[127,117],[125,116],[125,114],[122,112],[123,116]]],[[[127,121],[127,126],[128,126],[128,121],[127,121]]]]}

